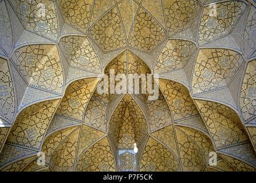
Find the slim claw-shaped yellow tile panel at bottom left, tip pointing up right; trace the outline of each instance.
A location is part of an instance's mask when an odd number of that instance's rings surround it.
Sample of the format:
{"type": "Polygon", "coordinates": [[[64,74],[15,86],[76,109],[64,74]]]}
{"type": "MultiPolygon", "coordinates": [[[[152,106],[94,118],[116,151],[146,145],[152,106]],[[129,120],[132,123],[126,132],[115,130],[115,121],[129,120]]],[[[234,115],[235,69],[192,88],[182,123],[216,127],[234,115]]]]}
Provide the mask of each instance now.
{"type": "Polygon", "coordinates": [[[53,153],[50,166],[54,171],[73,171],[79,132],[80,128],[74,130],[74,132],[70,134],[70,136],[67,137],[53,153]]]}

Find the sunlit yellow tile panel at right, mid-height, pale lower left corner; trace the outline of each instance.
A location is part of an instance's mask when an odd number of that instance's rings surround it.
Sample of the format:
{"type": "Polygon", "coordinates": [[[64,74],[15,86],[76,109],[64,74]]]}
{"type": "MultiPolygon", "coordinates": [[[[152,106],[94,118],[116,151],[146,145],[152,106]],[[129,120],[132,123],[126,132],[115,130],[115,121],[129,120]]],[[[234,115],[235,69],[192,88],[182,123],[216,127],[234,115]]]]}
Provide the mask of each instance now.
{"type": "Polygon", "coordinates": [[[192,92],[200,94],[229,85],[243,58],[235,51],[203,49],[198,53],[192,77],[192,92]]]}

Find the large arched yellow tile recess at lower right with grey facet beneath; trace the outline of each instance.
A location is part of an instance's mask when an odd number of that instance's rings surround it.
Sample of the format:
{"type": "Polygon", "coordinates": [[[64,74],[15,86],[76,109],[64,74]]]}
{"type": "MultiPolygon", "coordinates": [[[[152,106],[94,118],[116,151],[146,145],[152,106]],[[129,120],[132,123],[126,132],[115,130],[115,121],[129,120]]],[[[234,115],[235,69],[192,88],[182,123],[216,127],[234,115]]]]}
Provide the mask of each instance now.
{"type": "Polygon", "coordinates": [[[215,150],[255,167],[255,151],[238,114],[216,102],[194,101],[207,126],[215,150]]]}

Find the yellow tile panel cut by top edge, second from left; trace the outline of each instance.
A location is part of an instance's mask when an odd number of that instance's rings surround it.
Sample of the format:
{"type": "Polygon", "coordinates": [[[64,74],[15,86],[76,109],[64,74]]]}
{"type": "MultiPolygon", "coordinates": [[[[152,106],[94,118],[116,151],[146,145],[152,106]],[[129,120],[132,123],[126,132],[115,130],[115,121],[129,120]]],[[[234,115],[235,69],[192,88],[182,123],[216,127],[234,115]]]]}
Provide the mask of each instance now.
{"type": "Polygon", "coordinates": [[[65,21],[86,33],[89,26],[93,0],[60,0],[60,10],[65,21]]]}

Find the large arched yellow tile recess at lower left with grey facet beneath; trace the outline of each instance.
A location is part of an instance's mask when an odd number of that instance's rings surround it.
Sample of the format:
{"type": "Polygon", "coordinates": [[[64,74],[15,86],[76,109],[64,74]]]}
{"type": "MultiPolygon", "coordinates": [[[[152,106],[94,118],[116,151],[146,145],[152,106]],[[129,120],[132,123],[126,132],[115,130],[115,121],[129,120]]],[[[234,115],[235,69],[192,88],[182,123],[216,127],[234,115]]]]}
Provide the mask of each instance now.
{"type": "Polygon", "coordinates": [[[18,114],[0,155],[1,168],[40,152],[46,130],[59,102],[60,100],[40,102],[18,114]]]}

